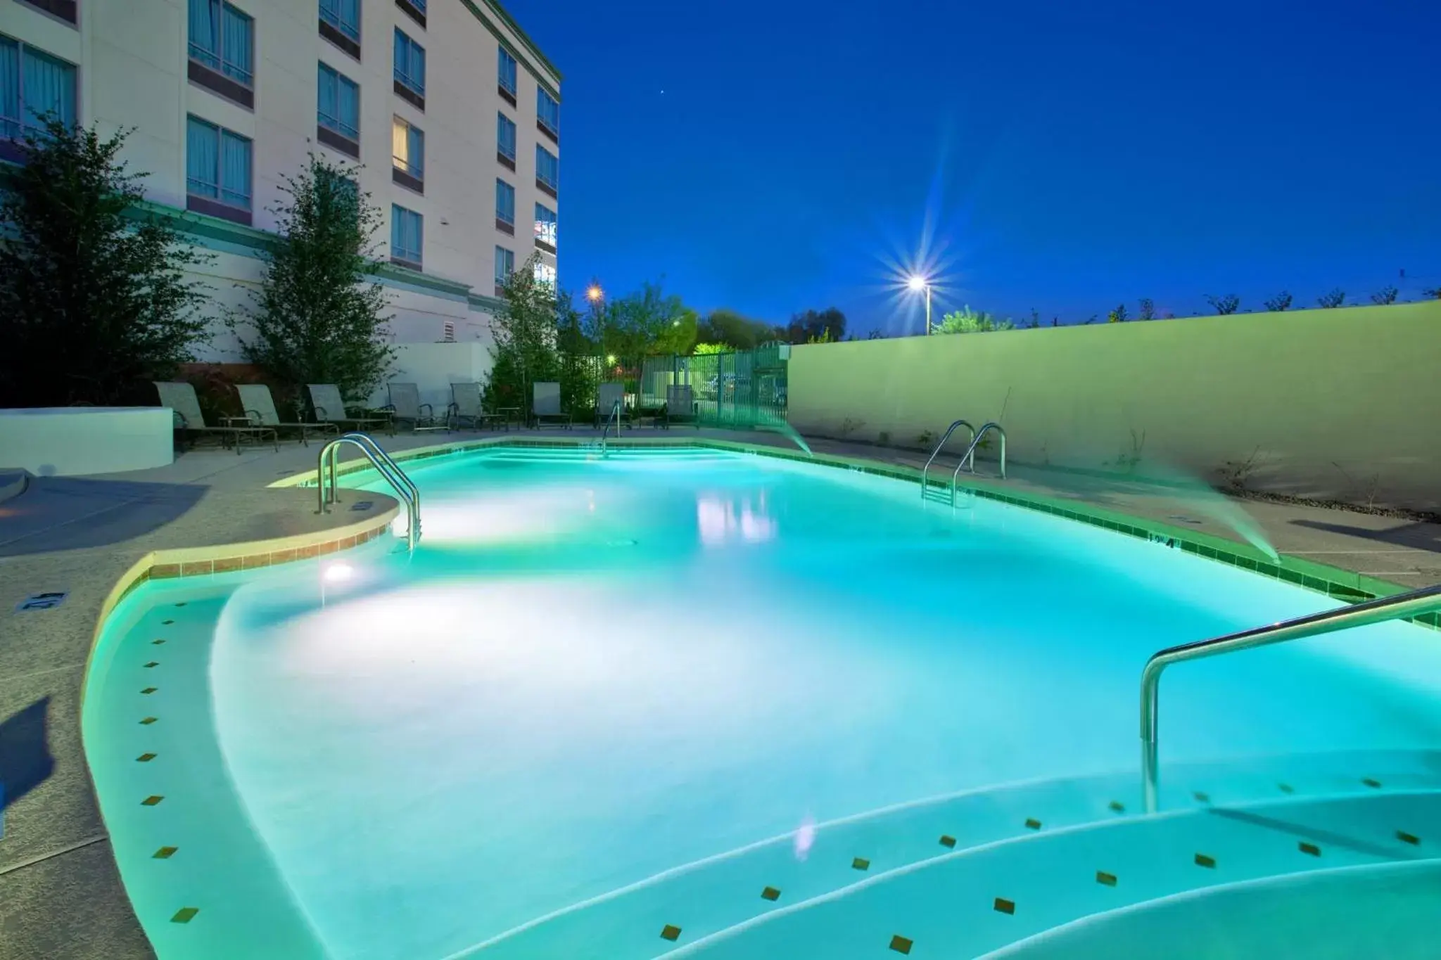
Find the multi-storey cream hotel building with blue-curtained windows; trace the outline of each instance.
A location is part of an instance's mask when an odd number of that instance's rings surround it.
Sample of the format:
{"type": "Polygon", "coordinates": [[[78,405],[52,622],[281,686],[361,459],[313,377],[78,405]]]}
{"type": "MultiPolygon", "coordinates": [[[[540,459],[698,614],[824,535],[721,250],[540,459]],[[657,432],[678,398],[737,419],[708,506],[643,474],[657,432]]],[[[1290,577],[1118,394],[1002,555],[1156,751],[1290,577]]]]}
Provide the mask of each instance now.
{"type": "MultiPolygon", "coordinates": [[[[45,109],[134,128],[124,158],[193,214],[218,307],[259,276],[281,174],[359,161],[396,343],[488,340],[535,250],[553,282],[559,88],[497,0],[0,0],[0,160],[45,109]]],[[[219,322],[206,350],[239,360],[219,322]]]]}

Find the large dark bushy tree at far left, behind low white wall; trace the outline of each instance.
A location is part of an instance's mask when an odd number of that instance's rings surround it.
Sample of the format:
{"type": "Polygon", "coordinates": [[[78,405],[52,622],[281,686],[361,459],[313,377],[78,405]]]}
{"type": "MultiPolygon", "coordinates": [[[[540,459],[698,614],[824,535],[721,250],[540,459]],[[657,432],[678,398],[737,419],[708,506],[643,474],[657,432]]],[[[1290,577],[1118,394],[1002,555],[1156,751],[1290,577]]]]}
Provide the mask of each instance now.
{"type": "Polygon", "coordinates": [[[0,407],[140,399],[206,340],[186,271],[210,256],[146,210],[146,174],[117,160],[128,135],[55,115],[26,131],[0,197],[0,407]]]}

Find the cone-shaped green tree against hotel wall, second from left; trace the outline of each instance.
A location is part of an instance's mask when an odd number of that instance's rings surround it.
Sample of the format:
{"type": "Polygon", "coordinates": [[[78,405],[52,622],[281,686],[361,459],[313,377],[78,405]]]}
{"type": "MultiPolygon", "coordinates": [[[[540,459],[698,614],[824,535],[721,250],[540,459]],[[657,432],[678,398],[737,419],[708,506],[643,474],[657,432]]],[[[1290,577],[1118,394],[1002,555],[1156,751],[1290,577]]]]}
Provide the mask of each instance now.
{"type": "Polygon", "coordinates": [[[356,168],[310,155],[275,214],[265,276],[226,322],[245,358],[298,397],[301,384],[333,383],[365,397],[391,370],[388,296],[375,281],[372,243],[380,209],[356,187],[356,168]]]}

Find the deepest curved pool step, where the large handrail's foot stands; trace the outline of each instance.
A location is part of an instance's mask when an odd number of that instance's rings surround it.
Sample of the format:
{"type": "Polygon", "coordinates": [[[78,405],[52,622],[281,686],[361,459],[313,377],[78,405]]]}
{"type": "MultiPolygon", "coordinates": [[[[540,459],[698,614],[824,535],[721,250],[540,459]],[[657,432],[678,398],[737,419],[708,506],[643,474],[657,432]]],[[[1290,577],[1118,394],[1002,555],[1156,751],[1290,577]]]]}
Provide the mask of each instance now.
{"type": "MultiPolygon", "coordinates": [[[[1365,751],[1176,764],[1164,769],[1161,799],[1166,809],[1209,809],[1417,787],[1441,787],[1441,754],[1365,751]]],[[[820,825],[804,859],[794,835],[771,838],[556,911],[494,938],[481,956],[643,960],[891,871],[1062,828],[1127,820],[1140,802],[1138,776],[1124,773],[984,787],[886,807],[820,825]],[[679,930],[676,940],[661,938],[667,928],[679,930]]]]}

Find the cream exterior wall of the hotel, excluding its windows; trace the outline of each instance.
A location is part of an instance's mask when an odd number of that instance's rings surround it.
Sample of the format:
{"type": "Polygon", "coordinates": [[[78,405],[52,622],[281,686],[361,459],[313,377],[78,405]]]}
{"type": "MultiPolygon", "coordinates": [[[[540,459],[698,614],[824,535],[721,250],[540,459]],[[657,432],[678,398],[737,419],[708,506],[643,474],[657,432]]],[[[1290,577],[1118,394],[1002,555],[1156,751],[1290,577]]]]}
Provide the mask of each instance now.
{"type": "MultiPolygon", "coordinates": [[[[383,212],[375,236],[389,258],[391,204],[424,216],[424,275],[405,282],[388,272],[392,340],[434,343],[445,322],[461,341],[490,341],[486,305],[468,299],[494,294],[494,249],[514,252],[516,265],[536,249],[535,203],[559,212],[535,180],[535,145],[559,147],[536,130],[535,73],[559,92],[559,76],[530,53],[529,40],[506,24],[487,0],[474,0],[480,16],[463,0],[431,0],[427,26],[393,0],[362,0],[360,60],[323,39],[318,0],[232,0],[255,20],[255,109],[187,79],[186,0],[79,0],[79,24],[71,26],[22,3],[0,0],[0,33],[33,45],[79,68],[79,119],[102,135],[133,128],[124,158],[144,171],[148,200],[186,206],[186,115],[219,124],[254,144],[252,226],[272,232],[269,207],[284,200],[282,176],[305,164],[311,151],[350,163],[316,140],[317,62],[360,85],[360,186],[383,212]],[[486,20],[483,22],[481,17],[486,20]],[[488,26],[487,26],[488,24],[488,26]],[[393,32],[399,26],[425,47],[425,109],[393,92],[393,32]],[[517,107],[497,94],[499,46],[506,39],[519,60],[517,107]],[[516,171],[496,160],[496,112],[516,122],[516,171]],[[391,127],[399,115],[425,132],[424,196],[391,178],[391,127]],[[496,177],[516,187],[516,235],[496,229],[496,177]],[[447,281],[435,289],[429,278],[447,281]]],[[[205,268],[213,291],[215,337],[202,360],[241,360],[235,337],[219,318],[245,298],[244,286],[259,278],[254,248],[206,239],[216,261],[205,268]],[[242,285],[236,288],[236,284],[242,285]]],[[[550,265],[555,258],[543,255],[550,265]]]]}

